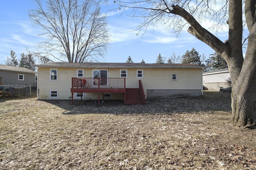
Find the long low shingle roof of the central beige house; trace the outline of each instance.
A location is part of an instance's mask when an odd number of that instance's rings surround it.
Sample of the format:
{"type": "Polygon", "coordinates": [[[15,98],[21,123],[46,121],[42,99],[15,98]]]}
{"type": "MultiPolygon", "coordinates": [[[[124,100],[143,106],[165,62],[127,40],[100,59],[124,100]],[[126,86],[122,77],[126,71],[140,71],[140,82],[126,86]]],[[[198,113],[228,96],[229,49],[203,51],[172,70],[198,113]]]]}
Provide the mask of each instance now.
{"type": "Polygon", "coordinates": [[[148,63],[46,63],[36,64],[36,67],[87,67],[87,68],[204,68],[197,64],[148,64],[148,63]]]}

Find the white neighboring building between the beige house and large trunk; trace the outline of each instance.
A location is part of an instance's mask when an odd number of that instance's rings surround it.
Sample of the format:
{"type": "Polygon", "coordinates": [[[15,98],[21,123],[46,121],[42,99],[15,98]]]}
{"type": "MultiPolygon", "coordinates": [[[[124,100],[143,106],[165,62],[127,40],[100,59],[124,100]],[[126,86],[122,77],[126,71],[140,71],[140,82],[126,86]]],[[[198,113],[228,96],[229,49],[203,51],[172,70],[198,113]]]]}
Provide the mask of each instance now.
{"type": "Polygon", "coordinates": [[[230,73],[228,68],[220,70],[212,70],[203,73],[203,85],[208,88],[209,91],[219,91],[220,87],[226,89],[225,91],[231,90],[228,84],[230,73]]]}

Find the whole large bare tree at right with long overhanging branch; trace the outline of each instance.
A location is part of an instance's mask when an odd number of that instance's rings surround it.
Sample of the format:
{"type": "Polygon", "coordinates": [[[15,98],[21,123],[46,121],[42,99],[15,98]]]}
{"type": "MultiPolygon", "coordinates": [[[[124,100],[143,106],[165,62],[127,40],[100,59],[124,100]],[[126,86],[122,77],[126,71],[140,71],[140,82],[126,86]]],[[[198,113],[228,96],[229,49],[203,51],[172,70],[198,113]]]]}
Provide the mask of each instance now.
{"type": "MultiPolygon", "coordinates": [[[[256,11],[255,0],[116,0],[117,8],[134,8],[134,16],[144,18],[138,29],[165,24],[180,32],[188,32],[219,53],[228,63],[232,80],[232,119],[238,126],[256,122],[256,11]],[[245,4],[243,4],[245,2],[245,4]],[[245,19],[243,21],[243,11],[245,19]],[[200,22],[207,21],[215,28],[228,24],[228,40],[222,42],[200,22]],[[249,35],[245,57],[242,53],[243,26],[249,35]],[[190,25],[190,26],[189,26],[190,25]]],[[[210,29],[209,29],[210,30],[210,29]]],[[[246,35],[247,36],[247,35],[246,35]]]]}

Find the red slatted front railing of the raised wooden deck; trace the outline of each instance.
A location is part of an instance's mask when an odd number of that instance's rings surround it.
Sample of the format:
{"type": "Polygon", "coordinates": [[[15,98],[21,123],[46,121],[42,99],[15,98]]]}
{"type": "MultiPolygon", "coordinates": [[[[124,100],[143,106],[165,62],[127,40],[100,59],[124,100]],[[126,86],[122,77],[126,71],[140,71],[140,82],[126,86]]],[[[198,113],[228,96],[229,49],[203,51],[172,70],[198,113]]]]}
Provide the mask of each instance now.
{"type": "Polygon", "coordinates": [[[72,88],[125,88],[125,78],[72,78],[72,88]]]}

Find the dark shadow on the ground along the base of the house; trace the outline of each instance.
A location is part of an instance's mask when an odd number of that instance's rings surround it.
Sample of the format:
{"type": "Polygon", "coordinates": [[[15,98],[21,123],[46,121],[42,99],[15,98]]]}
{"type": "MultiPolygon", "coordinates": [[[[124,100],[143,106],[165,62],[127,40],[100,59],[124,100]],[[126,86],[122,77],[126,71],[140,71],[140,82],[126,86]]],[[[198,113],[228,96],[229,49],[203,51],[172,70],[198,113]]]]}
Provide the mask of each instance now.
{"type": "Polygon", "coordinates": [[[146,105],[124,105],[123,101],[96,100],[44,100],[65,111],[63,114],[176,114],[212,111],[231,111],[230,93],[204,92],[198,97],[164,98],[147,100],[146,105]]]}

